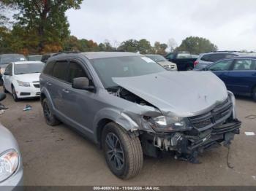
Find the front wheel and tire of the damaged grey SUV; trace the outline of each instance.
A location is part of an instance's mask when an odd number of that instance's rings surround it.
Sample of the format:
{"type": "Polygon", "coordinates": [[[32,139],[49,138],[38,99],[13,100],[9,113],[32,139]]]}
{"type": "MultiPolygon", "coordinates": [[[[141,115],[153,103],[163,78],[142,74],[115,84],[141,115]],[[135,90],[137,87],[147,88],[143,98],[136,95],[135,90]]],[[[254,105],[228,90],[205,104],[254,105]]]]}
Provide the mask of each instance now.
{"type": "Polygon", "coordinates": [[[102,131],[102,148],[110,171],[118,178],[129,179],[139,174],[143,151],[137,136],[130,136],[121,126],[110,122],[102,131]]]}

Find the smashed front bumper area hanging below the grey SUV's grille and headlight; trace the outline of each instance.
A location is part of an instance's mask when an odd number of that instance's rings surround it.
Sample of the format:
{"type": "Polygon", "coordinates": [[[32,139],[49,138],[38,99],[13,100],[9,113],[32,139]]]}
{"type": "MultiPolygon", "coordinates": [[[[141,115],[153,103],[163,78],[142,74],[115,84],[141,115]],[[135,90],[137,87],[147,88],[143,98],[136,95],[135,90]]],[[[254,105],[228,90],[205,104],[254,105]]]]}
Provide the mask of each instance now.
{"type": "Polygon", "coordinates": [[[146,155],[155,157],[161,151],[173,152],[176,159],[189,160],[192,163],[197,163],[197,155],[205,149],[219,144],[228,146],[235,134],[239,134],[240,127],[241,122],[234,119],[197,133],[197,135],[193,135],[194,132],[192,131],[165,135],[145,134],[142,137],[143,152],[146,155]]]}

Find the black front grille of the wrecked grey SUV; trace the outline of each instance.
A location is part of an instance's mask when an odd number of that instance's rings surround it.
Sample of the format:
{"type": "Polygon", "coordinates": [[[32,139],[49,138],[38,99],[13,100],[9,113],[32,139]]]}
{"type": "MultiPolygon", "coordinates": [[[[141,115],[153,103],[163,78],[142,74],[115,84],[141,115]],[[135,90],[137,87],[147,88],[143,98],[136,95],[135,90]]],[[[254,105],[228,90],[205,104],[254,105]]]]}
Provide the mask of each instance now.
{"type": "Polygon", "coordinates": [[[231,112],[232,103],[227,98],[221,104],[214,106],[214,109],[211,109],[211,111],[195,117],[189,117],[189,121],[194,128],[197,128],[197,130],[206,130],[220,122],[224,122],[228,117],[230,117],[231,112]]]}

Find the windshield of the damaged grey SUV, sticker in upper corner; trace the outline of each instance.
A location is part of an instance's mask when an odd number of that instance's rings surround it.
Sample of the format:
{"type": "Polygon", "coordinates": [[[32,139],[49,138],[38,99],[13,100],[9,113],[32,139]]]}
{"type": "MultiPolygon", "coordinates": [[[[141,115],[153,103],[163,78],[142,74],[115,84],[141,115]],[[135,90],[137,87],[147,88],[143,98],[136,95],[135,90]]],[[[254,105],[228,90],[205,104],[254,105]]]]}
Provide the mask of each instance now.
{"type": "Polygon", "coordinates": [[[117,86],[113,77],[135,77],[166,71],[150,58],[141,56],[97,58],[91,63],[106,89],[117,86]]]}

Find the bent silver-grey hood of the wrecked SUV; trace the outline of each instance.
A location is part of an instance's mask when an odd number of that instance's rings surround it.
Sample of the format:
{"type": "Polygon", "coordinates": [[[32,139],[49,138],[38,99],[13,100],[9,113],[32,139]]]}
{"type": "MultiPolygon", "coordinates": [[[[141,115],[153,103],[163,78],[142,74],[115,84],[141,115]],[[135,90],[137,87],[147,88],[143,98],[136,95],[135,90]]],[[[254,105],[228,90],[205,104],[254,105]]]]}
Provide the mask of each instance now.
{"type": "Polygon", "coordinates": [[[194,116],[227,98],[225,84],[210,71],[163,71],[113,81],[167,116],[194,116]]]}

